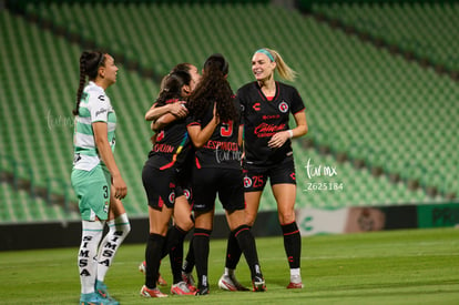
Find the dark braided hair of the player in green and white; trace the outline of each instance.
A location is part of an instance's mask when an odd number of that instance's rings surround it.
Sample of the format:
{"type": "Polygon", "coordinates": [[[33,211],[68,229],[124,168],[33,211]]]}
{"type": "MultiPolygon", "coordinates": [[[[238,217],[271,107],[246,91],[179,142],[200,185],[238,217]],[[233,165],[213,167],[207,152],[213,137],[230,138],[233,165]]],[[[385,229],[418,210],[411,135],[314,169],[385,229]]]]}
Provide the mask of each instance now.
{"type": "Polygon", "coordinates": [[[99,67],[104,65],[105,55],[103,52],[83,51],[80,57],[80,84],[76,91],[76,105],[72,110],[73,115],[79,114],[80,102],[83,95],[84,84],[86,82],[86,75],[89,79],[95,80],[98,77],[99,67]]]}

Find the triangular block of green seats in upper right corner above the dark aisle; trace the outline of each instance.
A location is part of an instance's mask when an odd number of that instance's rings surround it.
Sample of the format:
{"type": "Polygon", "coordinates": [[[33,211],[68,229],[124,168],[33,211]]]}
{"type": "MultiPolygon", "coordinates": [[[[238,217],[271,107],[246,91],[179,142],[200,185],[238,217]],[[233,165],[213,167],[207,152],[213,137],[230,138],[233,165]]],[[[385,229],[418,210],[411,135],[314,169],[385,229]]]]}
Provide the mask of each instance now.
{"type": "Polygon", "coordinates": [[[316,4],[313,11],[457,70],[458,12],[456,2],[316,4]]]}

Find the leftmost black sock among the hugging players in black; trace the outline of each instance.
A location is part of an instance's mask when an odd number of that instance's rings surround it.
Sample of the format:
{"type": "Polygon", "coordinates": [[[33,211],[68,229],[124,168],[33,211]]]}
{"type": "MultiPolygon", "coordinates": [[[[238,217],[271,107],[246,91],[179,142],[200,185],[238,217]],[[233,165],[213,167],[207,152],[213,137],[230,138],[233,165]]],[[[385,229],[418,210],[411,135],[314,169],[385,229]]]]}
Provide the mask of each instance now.
{"type": "Polygon", "coordinates": [[[145,250],[145,286],[156,287],[157,273],[160,271],[161,253],[163,252],[165,237],[160,234],[150,234],[145,250]]]}

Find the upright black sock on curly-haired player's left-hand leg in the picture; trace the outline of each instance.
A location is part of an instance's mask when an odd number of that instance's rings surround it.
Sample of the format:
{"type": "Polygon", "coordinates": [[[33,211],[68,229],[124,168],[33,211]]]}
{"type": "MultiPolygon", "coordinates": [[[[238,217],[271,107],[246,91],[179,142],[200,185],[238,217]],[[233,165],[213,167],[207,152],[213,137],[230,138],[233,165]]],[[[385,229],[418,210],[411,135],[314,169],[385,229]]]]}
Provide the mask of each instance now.
{"type": "Polygon", "coordinates": [[[194,228],[193,250],[196,263],[196,273],[198,278],[198,288],[207,287],[207,267],[208,267],[208,248],[212,231],[205,228],[194,228]]]}

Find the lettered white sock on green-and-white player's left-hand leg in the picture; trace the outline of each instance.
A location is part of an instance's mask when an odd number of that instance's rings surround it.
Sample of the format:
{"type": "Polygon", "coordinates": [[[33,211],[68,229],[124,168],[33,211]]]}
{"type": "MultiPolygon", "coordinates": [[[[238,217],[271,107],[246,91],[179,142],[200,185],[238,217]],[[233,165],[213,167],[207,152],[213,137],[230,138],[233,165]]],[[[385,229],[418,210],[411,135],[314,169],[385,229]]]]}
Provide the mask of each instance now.
{"type": "Polygon", "coordinates": [[[103,225],[105,222],[82,221],[81,245],[78,254],[78,266],[80,271],[81,293],[94,292],[95,277],[98,272],[98,246],[102,238],[103,225]]]}

